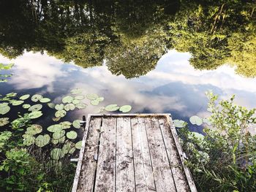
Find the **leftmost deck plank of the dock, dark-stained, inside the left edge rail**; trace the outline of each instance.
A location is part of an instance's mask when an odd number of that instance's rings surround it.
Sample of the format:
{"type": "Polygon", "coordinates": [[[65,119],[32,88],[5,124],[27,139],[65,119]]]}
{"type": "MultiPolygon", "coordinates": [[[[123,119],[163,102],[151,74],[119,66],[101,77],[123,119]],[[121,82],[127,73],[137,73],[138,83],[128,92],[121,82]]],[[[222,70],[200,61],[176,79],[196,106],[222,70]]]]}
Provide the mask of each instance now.
{"type": "Polygon", "coordinates": [[[98,153],[99,131],[102,118],[92,118],[89,125],[86,147],[83,155],[83,163],[78,181],[78,191],[92,191],[94,188],[94,174],[97,161],[94,155],[98,153]]]}

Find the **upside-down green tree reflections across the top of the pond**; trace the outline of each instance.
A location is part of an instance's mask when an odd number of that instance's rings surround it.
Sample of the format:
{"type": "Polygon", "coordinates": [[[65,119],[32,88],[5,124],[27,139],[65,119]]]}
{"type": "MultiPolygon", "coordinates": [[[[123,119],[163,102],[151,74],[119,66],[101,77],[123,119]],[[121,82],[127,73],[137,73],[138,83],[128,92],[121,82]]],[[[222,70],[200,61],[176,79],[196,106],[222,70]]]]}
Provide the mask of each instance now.
{"type": "Polygon", "coordinates": [[[256,4],[244,1],[0,2],[0,53],[48,51],[83,67],[106,60],[113,74],[139,77],[171,48],[196,69],[236,67],[256,77],[256,4]]]}

